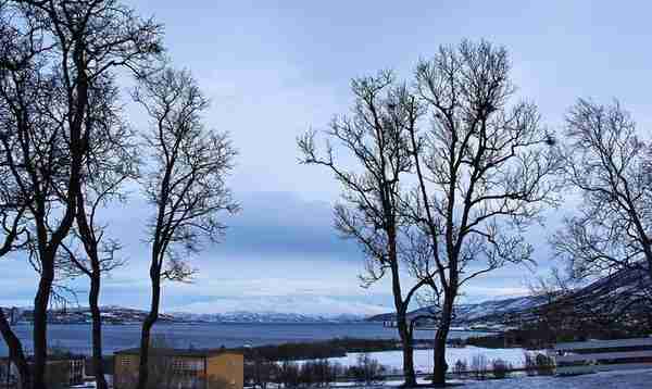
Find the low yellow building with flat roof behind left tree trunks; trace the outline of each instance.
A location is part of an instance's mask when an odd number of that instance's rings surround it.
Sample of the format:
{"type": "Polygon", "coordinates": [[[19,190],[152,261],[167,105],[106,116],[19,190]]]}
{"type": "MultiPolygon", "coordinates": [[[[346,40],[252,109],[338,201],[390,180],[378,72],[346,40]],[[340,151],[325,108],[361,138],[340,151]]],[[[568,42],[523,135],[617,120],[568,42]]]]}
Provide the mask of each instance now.
{"type": "MultiPolygon", "coordinates": [[[[114,353],[115,389],[130,389],[138,378],[139,349],[114,353]]],[[[151,349],[149,382],[161,389],[242,389],[244,357],[226,349],[151,349]]]]}

